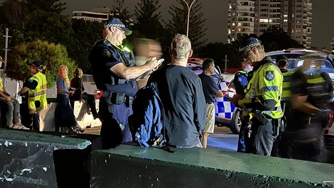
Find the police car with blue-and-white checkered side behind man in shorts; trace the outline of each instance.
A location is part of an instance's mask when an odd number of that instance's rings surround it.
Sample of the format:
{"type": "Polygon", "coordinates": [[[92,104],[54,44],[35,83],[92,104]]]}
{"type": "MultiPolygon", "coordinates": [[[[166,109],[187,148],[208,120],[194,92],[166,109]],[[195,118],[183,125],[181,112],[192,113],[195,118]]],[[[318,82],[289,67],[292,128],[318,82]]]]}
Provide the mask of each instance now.
{"type": "MultiPolygon", "coordinates": [[[[194,73],[202,73],[202,61],[203,59],[189,58],[187,67],[194,73]]],[[[215,66],[214,73],[212,75],[218,88],[223,93],[224,97],[215,100],[215,124],[218,126],[227,126],[231,129],[232,133],[238,134],[240,130],[241,121],[239,118],[239,109],[236,108],[228,98],[233,97],[235,94],[233,79],[223,78],[218,66],[215,66]]],[[[234,74],[230,75],[230,78],[234,78],[234,74]]]]}

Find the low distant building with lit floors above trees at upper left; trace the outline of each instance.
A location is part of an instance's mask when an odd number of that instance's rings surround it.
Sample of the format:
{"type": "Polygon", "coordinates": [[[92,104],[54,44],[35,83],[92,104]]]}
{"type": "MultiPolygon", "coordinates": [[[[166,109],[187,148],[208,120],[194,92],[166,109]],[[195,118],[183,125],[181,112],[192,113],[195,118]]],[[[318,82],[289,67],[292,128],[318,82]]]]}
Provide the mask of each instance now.
{"type": "Polygon", "coordinates": [[[82,19],[91,22],[104,22],[107,21],[111,15],[110,9],[107,7],[94,8],[90,11],[73,11],[73,19],[82,19]]]}

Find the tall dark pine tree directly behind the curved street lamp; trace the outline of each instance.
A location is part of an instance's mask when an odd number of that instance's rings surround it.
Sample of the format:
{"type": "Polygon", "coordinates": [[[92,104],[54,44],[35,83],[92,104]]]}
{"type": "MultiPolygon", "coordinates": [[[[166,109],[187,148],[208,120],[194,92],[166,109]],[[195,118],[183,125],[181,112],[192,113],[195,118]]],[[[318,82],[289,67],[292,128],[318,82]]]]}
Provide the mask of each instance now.
{"type": "MultiPolygon", "coordinates": [[[[172,35],[177,33],[187,34],[187,19],[188,19],[188,8],[187,5],[182,0],[176,0],[180,7],[172,5],[168,11],[172,20],[166,24],[166,29],[171,31],[172,35]]],[[[193,2],[192,0],[187,0],[189,6],[193,2]]],[[[201,40],[205,35],[207,28],[204,27],[204,22],[206,19],[203,19],[203,12],[201,12],[202,3],[196,1],[191,10],[189,18],[189,39],[192,43],[192,48],[195,50],[199,49],[201,45],[207,42],[207,40],[201,40]]]]}

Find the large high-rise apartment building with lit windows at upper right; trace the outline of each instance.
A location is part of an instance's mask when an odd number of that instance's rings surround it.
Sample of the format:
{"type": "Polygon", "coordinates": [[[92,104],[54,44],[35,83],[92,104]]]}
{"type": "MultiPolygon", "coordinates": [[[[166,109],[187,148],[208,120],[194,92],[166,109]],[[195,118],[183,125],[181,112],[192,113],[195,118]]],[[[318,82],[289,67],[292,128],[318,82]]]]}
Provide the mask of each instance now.
{"type": "Polygon", "coordinates": [[[238,34],[260,36],[269,27],[280,27],[291,39],[311,47],[311,0],[230,0],[228,6],[228,43],[236,40],[238,34]],[[248,32],[243,28],[244,22],[249,25],[248,32]]]}

